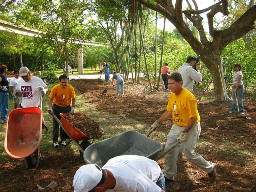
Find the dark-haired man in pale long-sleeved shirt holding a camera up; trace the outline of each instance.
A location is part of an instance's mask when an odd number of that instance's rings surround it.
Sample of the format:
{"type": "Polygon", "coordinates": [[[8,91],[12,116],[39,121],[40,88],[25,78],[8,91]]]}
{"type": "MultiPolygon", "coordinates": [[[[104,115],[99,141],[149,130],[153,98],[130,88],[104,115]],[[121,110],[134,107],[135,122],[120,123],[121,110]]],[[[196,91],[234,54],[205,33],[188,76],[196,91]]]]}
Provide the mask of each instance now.
{"type": "Polygon", "coordinates": [[[178,72],[181,74],[183,79],[183,87],[188,89],[190,92],[193,92],[194,80],[197,82],[201,82],[203,80],[203,76],[200,73],[201,65],[196,64],[198,60],[196,60],[196,57],[190,55],[187,57],[186,63],[181,65],[178,69],[178,72]],[[196,70],[193,68],[195,65],[196,70]]]}

